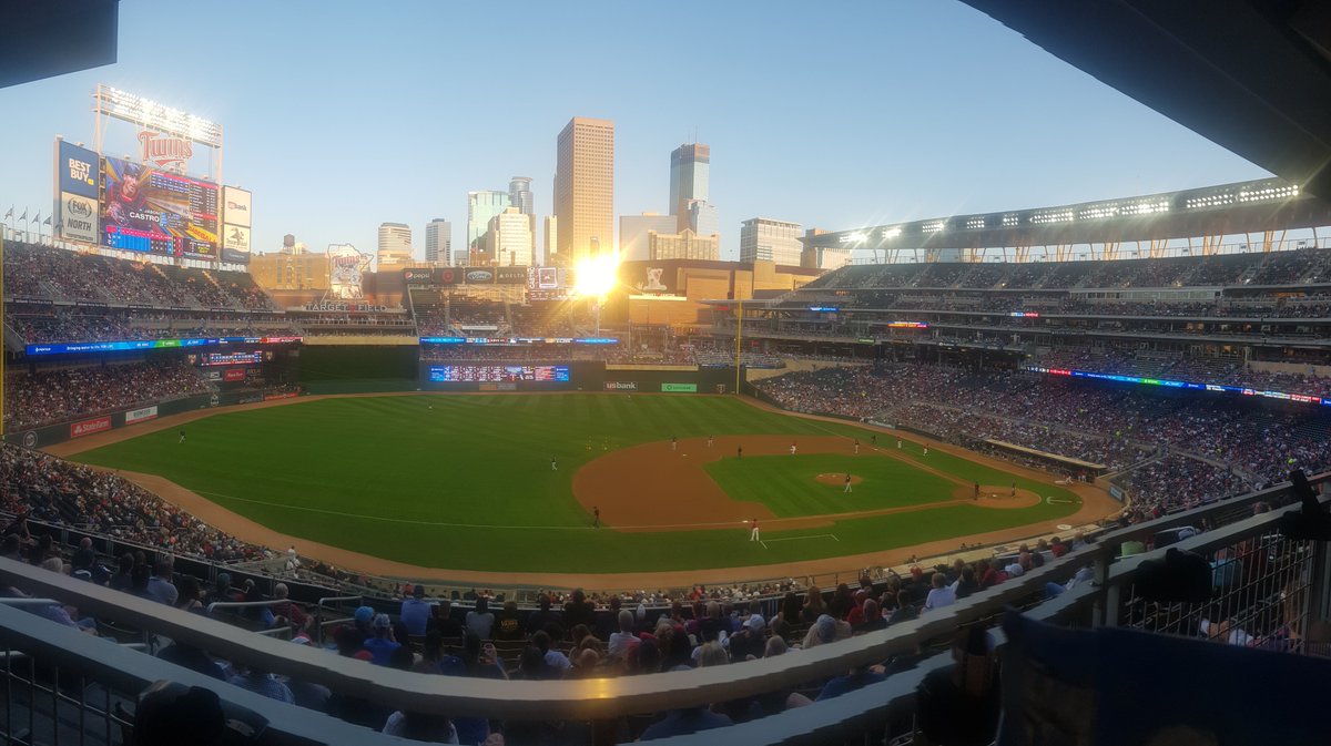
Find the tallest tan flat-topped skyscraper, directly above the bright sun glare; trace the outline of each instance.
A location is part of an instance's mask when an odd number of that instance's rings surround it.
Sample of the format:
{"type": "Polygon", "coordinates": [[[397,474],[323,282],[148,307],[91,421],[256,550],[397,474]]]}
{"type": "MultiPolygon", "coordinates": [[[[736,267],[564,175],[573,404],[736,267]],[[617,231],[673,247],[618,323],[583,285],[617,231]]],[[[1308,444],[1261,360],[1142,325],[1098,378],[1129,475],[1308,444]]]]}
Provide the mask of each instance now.
{"type": "Polygon", "coordinates": [[[555,148],[560,261],[576,263],[615,245],[615,122],[574,117],[555,148]]]}

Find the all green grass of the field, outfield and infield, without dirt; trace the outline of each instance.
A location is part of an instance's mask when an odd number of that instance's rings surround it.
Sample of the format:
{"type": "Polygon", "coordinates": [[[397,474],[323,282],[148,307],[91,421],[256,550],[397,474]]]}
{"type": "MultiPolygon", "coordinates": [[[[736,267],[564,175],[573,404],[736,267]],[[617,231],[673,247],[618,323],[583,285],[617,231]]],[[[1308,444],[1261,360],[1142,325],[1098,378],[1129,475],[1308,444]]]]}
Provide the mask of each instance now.
{"type": "MultiPolygon", "coordinates": [[[[860,456],[763,456],[708,465],[735,499],[761,500],[779,516],[940,501],[956,487],[897,459],[869,455],[869,434],[860,428],[768,412],[733,398],[322,399],[221,412],[186,431],[184,444],[168,428],[76,460],[162,475],[284,533],[438,568],[634,572],[776,564],[964,537],[1061,517],[1078,507],[940,505],[817,529],[764,529],[765,547],[747,541],[743,527],[659,533],[588,527],[590,516],[571,492],[578,467],[607,449],[671,436],[845,435],[865,444],[860,456]],[[551,456],[558,456],[559,471],[550,469],[551,456]],[[852,495],[813,480],[848,469],[864,479],[852,495]]],[[[902,455],[966,481],[1013,481],[1006,472],[937,451],[921,456],[910,444],[902,455]]],[[[1017,481],[1041,495],[1073,497],[1017,481]]],[[[679,523],[688,523],[688,515],[679,523]]]]}

